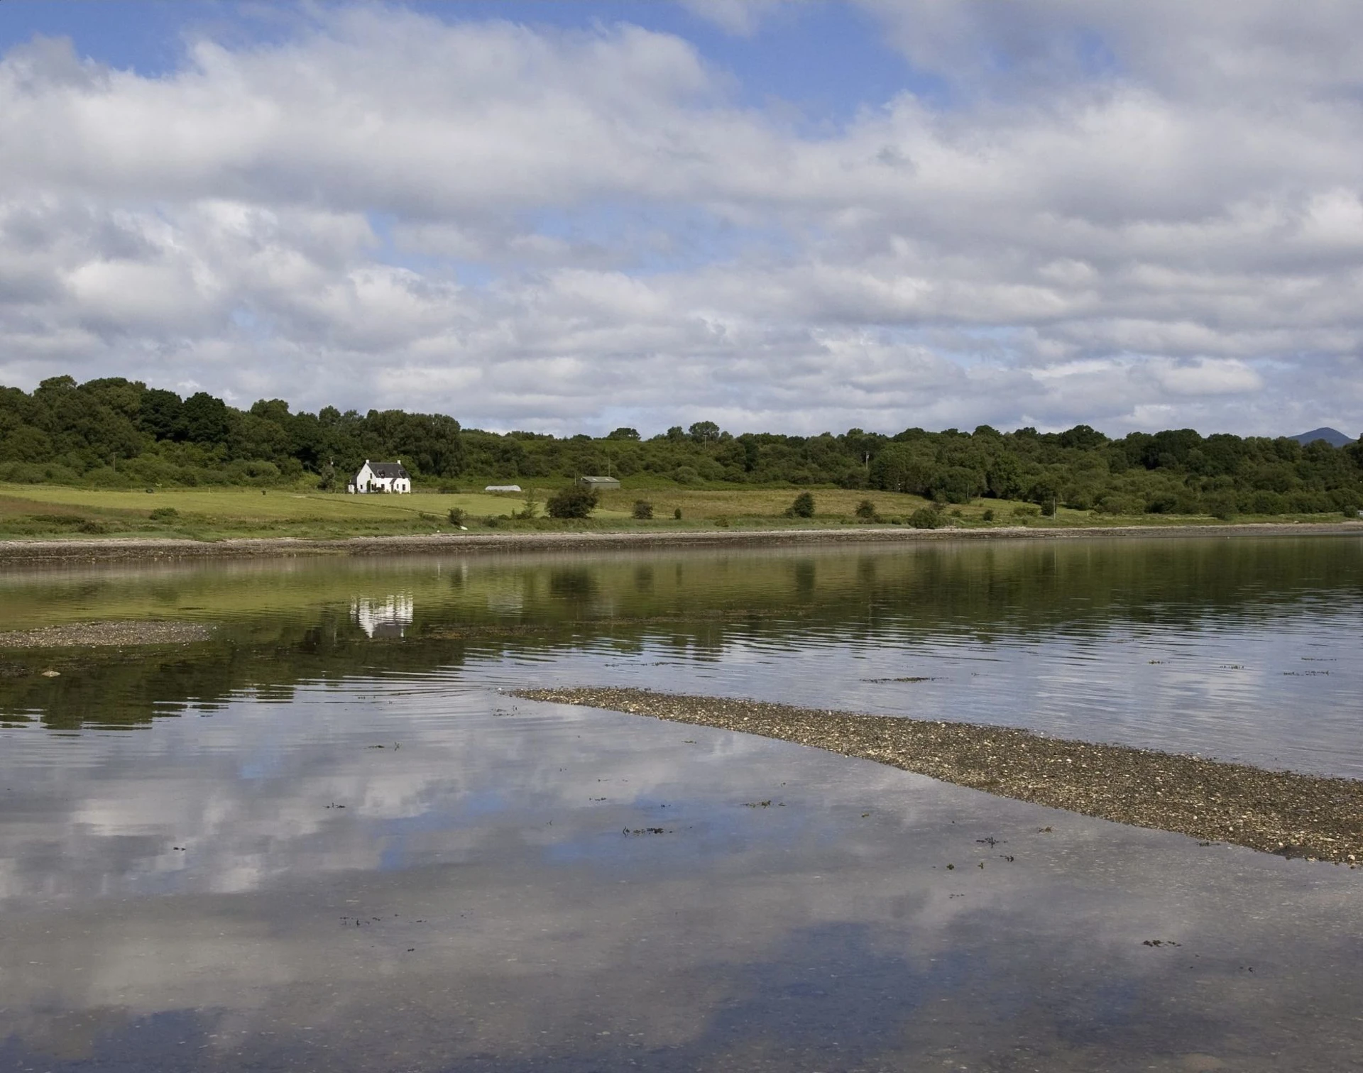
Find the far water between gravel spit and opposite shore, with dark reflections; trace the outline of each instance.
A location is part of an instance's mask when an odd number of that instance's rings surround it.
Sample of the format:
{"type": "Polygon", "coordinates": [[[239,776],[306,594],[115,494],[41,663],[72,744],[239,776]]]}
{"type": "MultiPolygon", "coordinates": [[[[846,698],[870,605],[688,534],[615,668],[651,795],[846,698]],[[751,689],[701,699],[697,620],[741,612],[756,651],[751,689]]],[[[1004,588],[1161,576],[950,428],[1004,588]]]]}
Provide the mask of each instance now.
{"type": "Polygon", "coordinates": [[[1352,536],[285,561],[10,572],[16,625],[211,643],[0,658],[11,727],[139,726],[387,674],[628,684],[1363,775],[1352,536]],[[60,678],[42,678],[48,667],[60,678]],[[906,681],[912,679],[912,681],[906,681]]]}

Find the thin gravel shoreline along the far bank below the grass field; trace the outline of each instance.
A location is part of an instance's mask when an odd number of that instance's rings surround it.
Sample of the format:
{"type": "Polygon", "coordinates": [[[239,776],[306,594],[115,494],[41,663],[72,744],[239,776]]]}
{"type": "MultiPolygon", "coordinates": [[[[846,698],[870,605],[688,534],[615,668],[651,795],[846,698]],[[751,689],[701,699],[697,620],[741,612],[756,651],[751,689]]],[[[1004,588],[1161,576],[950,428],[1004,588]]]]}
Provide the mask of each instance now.
{"type": "Polygon", "coordinates": [[[289,558],[298,556],[402,556],[451,551],[585,551],[654,547],[762,547],[842,543],[909,543],[921,541],[1066,541],[1084,538],[1363,535],[1363,522],[1244,523],[1206,526],[1092,526],[987,530],[915,530],[904,526],[840,526],[810,530],[687,530],[649,532],[448,532],[421,536],[349,536],[343,539],[260,538],[63,539],[0,541],[0,564],[42,565],[179,558],[289,558]]]}

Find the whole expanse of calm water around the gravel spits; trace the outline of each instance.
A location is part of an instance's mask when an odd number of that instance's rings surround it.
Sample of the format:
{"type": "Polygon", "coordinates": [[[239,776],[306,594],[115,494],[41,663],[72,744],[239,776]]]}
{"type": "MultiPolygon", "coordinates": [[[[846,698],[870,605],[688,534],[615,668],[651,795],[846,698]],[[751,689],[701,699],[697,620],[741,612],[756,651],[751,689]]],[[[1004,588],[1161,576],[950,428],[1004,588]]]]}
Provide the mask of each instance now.
{"type": "Polygon", "coordinates": [[[10,572],[0,610],[215,629],[0,652],[0,1070],[1363,1068],[1363,871],[497,692],[1363,778],[1358,538],[10,572]]]}

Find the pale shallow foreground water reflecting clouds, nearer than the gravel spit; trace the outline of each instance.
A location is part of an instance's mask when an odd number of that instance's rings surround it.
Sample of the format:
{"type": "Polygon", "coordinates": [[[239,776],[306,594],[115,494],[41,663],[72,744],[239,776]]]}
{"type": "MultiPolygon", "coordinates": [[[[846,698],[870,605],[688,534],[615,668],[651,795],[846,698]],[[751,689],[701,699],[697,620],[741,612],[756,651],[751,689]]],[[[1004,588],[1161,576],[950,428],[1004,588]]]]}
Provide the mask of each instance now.
{"type": "Polygon", "coordinates": [[[386,677],[7,746],[4,1069],[1323,1070],[1360,1042],[1359,873],[786,743],[386,677]]]}

